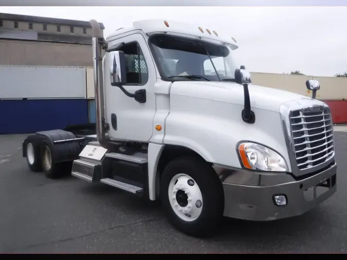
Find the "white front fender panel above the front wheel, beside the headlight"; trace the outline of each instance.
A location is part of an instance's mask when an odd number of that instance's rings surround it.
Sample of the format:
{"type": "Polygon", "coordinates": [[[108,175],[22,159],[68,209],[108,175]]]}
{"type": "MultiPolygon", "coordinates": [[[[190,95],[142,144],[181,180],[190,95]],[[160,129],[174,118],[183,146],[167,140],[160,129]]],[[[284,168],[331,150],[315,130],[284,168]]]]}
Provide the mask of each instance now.
{"type": "Polygon", "coordinates": [[[252,107],[257,121],[241,119],[242,105],[171,96],[163,144],[190,148],[206,161],[241,169],[238,143],[262,144],[279,153],[291,171],[280,113],[252,107]]]}

